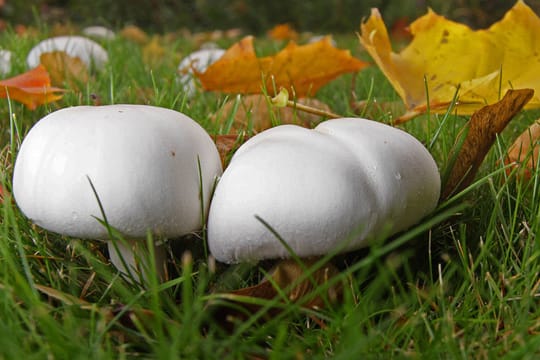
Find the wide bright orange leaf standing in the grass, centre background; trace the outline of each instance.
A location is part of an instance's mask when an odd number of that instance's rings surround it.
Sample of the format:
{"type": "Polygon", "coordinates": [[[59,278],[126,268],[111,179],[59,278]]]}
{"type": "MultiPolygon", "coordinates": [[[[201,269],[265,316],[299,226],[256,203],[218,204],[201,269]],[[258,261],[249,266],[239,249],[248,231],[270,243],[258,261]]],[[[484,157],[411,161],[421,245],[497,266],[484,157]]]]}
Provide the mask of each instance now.
{"type": "Polygon", "coordinates": [[[205,90],[227,93],[270,94],[281,87],[296,97],[312,96],[320,87],[341,74],[368,66],[348,50],[332,46],[330,38],[297,45],[290,42],[274,56],[258,58],[253,37],[232,45],[205,72],[195,72],[205,90]]]}

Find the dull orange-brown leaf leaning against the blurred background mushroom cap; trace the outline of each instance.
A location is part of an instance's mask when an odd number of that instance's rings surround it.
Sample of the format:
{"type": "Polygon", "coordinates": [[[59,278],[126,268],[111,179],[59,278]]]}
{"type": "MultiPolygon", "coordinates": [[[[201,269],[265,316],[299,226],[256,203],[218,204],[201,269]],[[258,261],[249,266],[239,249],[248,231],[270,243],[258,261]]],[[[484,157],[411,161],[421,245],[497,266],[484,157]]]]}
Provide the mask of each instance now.
{"type": "Polygon", "coordinates": [[[78,57],[69,56],[64,51],[52,51],[42,53],[39,62],[47,69],[54,86],[62,86],[65,83],[75,90],[88,82],[88,69],[78,57]]]}

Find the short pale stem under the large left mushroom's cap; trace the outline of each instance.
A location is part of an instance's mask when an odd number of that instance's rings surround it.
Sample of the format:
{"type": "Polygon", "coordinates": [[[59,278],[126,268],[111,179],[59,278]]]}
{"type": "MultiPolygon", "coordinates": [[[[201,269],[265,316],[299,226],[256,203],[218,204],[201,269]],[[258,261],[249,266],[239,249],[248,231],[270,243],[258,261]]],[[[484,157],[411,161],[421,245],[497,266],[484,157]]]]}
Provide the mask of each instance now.
{"type": "Polygon", "coordinates": [[[113,265],[130,279],[147,284],[154,274],[160,281],[165,278],[167,254],[163,243],[152,243],[153,249],[149,249],[145,241],[125,239],[108,241],[107,246],[113,265]],[[154,261],[150,258],[152,254],[154,261]]]}

